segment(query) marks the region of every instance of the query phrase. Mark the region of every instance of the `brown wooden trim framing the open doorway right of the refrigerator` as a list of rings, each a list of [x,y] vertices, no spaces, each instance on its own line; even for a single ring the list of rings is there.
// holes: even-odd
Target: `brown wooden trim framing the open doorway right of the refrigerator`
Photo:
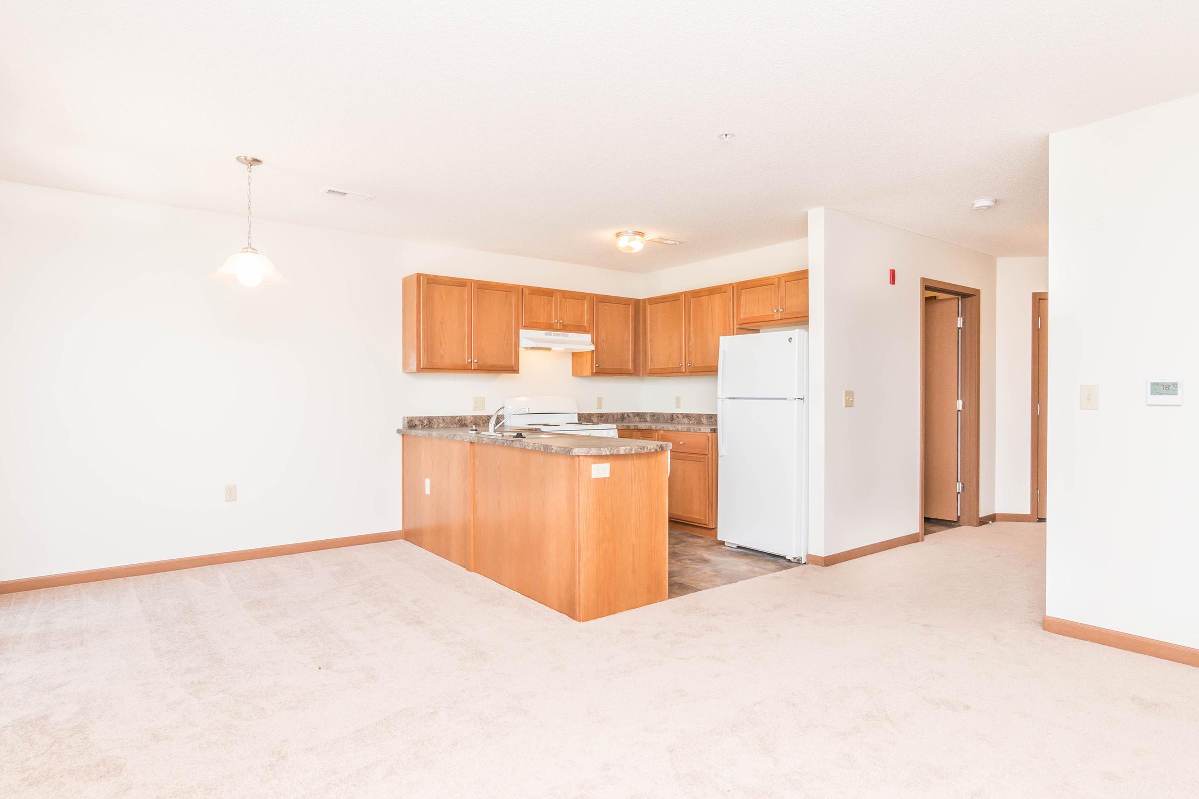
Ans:
[[[982,377],[981,313],[982,291],[933,278],[920,279],[920,516],[916,529],[924,540],[924,292],[939,291],[962,298],[962,509],[958,523],[977,527],[978,519],[978,435],[980,381]]]

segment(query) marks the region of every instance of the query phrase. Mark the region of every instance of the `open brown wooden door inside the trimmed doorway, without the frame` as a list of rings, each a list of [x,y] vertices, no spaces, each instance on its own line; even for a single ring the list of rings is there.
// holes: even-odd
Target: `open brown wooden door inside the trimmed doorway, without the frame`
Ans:
[[[958,299],[924,299],[924,516],[958,520]]]

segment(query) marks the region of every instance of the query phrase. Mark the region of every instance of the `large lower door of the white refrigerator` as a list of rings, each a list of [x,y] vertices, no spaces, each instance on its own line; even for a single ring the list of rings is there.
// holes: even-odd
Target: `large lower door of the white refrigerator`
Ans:
[[[718,538],[806,561],[803,401],[722,399],[718,414]]]

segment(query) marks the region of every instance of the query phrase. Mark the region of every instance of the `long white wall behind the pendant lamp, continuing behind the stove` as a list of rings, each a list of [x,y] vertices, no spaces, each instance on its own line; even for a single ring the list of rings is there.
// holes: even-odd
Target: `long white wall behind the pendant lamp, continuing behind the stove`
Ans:
[[[410,272],[626,295],[640,276],[259,220],[290,283],[209,280],[243,225],[0,182],[0,580],[398,529],[399,418],[475,395],[641,408],[639,381],[570,377],[558,352],[400,371]]]

